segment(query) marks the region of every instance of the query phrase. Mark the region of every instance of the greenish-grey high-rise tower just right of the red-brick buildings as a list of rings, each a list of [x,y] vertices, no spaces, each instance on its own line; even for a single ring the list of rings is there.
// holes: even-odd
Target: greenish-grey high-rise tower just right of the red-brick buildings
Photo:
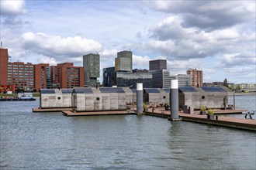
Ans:
[[[85,86],[95,87],[99,78],[99,54],[89,53],[83,56]]]

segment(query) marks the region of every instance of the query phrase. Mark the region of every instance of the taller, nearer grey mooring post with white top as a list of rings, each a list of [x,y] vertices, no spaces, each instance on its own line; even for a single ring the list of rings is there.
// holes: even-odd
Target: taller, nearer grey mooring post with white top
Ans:
[[[171,121],[179,120],[178,118],[178,80],[171,80],[170,90],[170,106],[171,106]]]

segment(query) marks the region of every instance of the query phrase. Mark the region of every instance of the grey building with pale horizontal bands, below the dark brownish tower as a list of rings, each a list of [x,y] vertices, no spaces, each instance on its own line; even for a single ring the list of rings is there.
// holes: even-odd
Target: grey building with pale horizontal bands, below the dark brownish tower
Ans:
[[[170,88],[171,77],[168,70],[150,70],[152,74],[152,87],[154,88]]]

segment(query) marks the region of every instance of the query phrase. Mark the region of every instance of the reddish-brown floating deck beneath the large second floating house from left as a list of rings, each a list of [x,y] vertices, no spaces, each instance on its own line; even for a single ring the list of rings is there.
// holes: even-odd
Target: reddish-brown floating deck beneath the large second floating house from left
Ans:
[[[86,111],[75,112],[73,110],[62,110],[65,116],[95,116],[95,115],[117,115],[117,114],[135,114],[133,110],[104,110],[104,111]]]

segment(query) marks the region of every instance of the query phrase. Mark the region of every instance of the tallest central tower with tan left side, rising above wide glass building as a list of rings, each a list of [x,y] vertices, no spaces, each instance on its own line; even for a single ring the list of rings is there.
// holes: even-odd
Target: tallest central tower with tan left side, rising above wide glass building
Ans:
[[[133,72],[133,53],[131,51],[121,51],[117,53],[115,70],[116,72]]]

